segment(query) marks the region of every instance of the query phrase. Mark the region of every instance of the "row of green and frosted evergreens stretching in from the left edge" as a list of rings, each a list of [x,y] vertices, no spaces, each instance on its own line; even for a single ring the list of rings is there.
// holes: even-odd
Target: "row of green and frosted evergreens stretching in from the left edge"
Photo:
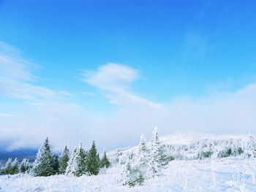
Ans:
[[[18,164],[17,158],[12,162],[10,158],[7,161],[4,169],[1,169],[1,174],[18,174],[29,173],[33,176],[50,176],[54,174],[67,174],[70,176],[81,176],[83,174],[91,175],[98,174],[100,168],[108,168],[110,161],[104,152],[102,158],[99,158],[95,142],[92,142],[89,151],[83,149],[80,142],[79,147],[75,147],[74,152],[69,157],[69,150],[67,146],[64,147],[63,152],[59,155],[51,153],[48,138],[39,148],[37,158],[34,164],[30,164],[25,158]]]

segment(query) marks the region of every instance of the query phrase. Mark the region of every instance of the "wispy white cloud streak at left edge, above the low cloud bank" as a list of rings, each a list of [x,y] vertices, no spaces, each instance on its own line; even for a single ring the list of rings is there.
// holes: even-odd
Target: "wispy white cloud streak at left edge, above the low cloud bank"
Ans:
[[[33,66],[18,49],[0,42],[0,95],[27,100],[58,97],[56,91],[34,85]]]

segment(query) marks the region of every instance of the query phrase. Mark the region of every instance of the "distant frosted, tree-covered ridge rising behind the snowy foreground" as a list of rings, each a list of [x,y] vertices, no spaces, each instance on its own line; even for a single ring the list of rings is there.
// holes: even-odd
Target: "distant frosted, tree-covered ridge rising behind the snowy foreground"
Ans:
[[[225,158],[228,156],[256,156],[256,135],[225,135],[178,133],[160,137],[162,150],[170,159],[192,160]],[[150,142],[147,142],[150,145]],[[125,164],[138,153],[138,146],[113,150],[108,153],[112,164]]]

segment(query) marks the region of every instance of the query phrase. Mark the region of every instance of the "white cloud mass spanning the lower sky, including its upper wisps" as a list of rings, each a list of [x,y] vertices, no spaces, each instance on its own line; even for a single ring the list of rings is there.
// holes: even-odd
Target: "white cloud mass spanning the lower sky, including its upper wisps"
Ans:
[[[99,91],[81,95],[100,93],[118,108],[103,118],[72,102],[69,91],[37,85],[34,64],[10,45],[0,43],[0,47],[0,104],[4,106],[0,109],[0,143],[10,150],[38,147],[47,136],[57,150],[66,144],[72,148],[80,140],[89,145],[92,139],[99,149],[110,150],[137,144],[141,133],[149,138],[154,126],[161,135],[175,131],[256,134],[256,83],[235,92],[157,103],[132,91],[132,83],[140,78],[138,69],[108,63],[81,74],[83,82]]]

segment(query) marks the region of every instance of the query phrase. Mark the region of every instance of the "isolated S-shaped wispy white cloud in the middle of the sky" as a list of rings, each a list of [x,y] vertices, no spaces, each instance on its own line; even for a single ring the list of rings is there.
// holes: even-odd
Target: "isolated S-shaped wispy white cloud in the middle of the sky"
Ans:
[[[112,104],[131,107],[145,104],[148,107],[159,107],[160,104],[143,99],[130,91],[132,82],[139,77],[139,71],[124,64],[108,63],[96,71],[84,71],[82,80],[98,88],[110,99]]]

